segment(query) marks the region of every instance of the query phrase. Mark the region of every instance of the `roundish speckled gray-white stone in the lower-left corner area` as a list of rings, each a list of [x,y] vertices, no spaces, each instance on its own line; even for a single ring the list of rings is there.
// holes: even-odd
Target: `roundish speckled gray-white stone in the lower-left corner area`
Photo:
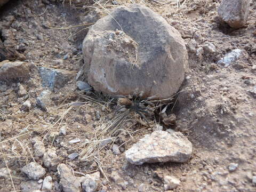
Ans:
[[[45,169],[38,163],[31,162],[22,168],[22,172],[25,173],[29,179],[40,179],[45,174]]]

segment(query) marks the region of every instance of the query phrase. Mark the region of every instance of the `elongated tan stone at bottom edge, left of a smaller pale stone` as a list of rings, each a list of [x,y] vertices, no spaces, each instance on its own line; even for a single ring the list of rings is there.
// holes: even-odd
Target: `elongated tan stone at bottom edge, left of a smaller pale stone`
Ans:
[[[59,164],[58,173],[60,175],[60,185],[64,192],[81,191],[81,182],[73,175],[67,165]]]

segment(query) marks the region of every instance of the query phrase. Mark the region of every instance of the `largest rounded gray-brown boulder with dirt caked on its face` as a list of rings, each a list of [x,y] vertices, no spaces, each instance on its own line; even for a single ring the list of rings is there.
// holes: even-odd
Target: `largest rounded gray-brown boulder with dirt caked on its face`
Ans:
[[[142,98],[171,97],[188,62],[179,32],[138,4],[118,7],[98,20],[83,41],[83,55],[94,90]]]

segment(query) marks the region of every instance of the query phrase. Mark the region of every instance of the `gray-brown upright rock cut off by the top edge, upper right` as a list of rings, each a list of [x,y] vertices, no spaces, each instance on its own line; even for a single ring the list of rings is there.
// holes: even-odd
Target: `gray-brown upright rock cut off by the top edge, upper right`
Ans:
[[[222,0],[218,14],[232,28],[243,27],[247,21],[251,0]]]

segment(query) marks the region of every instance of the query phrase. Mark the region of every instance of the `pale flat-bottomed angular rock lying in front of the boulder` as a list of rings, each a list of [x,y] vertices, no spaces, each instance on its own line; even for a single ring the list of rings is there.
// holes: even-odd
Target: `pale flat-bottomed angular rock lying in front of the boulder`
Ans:
[[[180,132],[154,131],[125,152],[132,164],[155,162],[186,162],[192,153],[191,142]]]

